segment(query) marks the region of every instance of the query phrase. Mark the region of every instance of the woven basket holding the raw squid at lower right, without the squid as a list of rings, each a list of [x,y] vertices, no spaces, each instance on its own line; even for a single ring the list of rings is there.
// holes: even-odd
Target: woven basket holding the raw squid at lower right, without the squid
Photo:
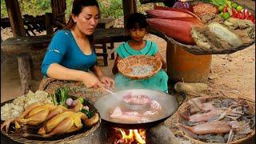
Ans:
[[[210,100],[213,100],[213,99],[216,99],[216,98],[218,98],[218,99],[226,99],[226,98],[230,98],[230,97],[210,97],[210,98],[206,98],[206,102],[208,102]],[[235,98],[230,98],[230,99],[235,99]],[[246,100],[247,105],[249,106],[250,114],[252,114],[252,115],[255,114],[255,102],[252,102],[252,101],[250,101],[248,99],[245,99],[245,98],[238,98],[238,99]],[[188,102],[185,102],[180,107],[180,109],[178,111],[180,113],[183,113],[183,112],[186,112],[187,110],[190,110],[190,106],[189,106]],[[182,118],[180,116],[178,116],[178,122],[181,122],[181,120],[182,120]],[[217,144],[216,142],[202,142],[202,141],[199,141],[197,139],[190,138],[190,136],[186,135],[182,130],[180,130],[180,132],[182,133],[182,135],[185,138],[188,138],[194,144]],[[254,134],[255,134],[255,127],[254,127],[253,132],[248,134],[245,138],[240,138],[240,139],[238,139],[236,141],[230,142],[230,144],[238,144],[238,143],[244,142],[247,139],[252,138],[254,136]],[[220,144],[220,143],[218,143],[218,144]]]

